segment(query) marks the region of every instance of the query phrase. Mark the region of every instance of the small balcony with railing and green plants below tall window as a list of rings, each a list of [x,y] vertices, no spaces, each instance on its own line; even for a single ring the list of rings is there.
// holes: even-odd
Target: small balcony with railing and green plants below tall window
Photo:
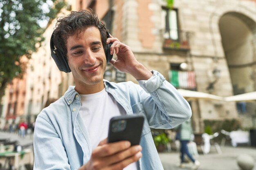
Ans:
[[[163,35],[163,48],[166,50],[189,51],[189,32],[182,30],[169,30]]]

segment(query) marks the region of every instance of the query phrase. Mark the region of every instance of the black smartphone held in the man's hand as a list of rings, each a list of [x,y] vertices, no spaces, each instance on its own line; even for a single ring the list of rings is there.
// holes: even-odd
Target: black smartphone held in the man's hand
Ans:
[[[143,124],[142,115],[112,117],[108,129],[108,143],[130,141],[131,145],[139,145]]]

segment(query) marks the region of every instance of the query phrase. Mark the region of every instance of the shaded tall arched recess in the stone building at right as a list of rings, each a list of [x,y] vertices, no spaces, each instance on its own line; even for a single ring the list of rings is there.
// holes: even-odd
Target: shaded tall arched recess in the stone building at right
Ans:
[[[227,12],[219,29],[234,95],[255,91],[256,22],[243,13]]]

